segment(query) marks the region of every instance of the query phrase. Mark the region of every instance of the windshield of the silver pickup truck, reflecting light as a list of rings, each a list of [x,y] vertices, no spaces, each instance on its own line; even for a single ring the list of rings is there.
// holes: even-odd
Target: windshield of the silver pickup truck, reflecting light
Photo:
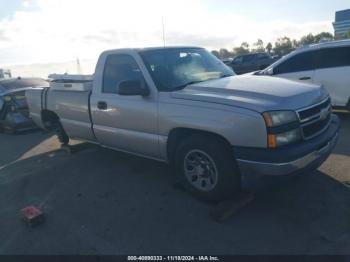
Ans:
[[[234,72],[202,48],[157,49],[140,52],[159,91],[233,76]]]

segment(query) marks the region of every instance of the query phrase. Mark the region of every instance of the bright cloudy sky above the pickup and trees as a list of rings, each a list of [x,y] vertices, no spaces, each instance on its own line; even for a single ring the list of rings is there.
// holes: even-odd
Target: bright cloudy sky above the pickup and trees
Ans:
[[[16,75],[91,73],[98,54],[167,45],[231,49],[242,41],[333,32],[349,0],[0,0],[0,67]],[[67,62],[68,61],[68,62]],[[69,62],[70,61],[70,62]]]

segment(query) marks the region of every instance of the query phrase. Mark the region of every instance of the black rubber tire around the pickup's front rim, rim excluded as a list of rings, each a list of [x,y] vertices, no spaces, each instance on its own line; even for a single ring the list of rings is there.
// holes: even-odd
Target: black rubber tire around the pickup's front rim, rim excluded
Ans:
[[[190,159],[191,154],[197,154],[197,151],[199,154],[204,152],[205,155],[209,156],[217,171],[216,179],[213,179],[216,183],[212,182],[212,178],[210,178],[209,182],[211,183],[209,187],[212,186],[213,188],[204,191],[198,188],[202,185],[197,185],[196,188],[196,186],[191,184],[189,181],[190,178],[188,178],[185,172],[185,160]],[[201,200],[225,200],[241,190],[241,176],[232,149],[219,138],[210,135],[193,135],[186,138],[176,149],[174,165],[178,179],[185,189]],[[193,170],[197,169],[193,168]],[[213,169],[208,168],[207,170]],[[196,180],[195,177],[202,179],[201,176],[203,175],[195,175],[194,180]],[[201,184],[199,180],[196,183]]]

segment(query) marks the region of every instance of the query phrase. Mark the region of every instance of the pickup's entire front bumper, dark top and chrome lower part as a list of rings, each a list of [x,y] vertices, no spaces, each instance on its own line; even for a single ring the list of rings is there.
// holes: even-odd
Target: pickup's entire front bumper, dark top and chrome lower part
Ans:
[[[235,148],[243,181],[249,176],[283,176],[318,168],[335,147],[339,128],[339,118],[332,115],[325,132],[298,145],[273,150]]]

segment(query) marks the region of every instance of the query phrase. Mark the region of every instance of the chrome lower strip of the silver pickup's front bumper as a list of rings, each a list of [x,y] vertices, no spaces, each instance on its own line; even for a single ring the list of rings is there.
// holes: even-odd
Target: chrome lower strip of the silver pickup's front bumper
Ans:
[[[321,165],[331,154],[333,148],[338,141],[339,134],[330,140],[326,146],[314,151],[302,158],[287,163],[266,163],[266,162],[255,162],[243,159],[237,159],[237,163],[241,174],[243,176],[254,174],[254,175],[269,175],[269,176],[280,176],[289,175],[300,172],[307,169],[310,166]]]

